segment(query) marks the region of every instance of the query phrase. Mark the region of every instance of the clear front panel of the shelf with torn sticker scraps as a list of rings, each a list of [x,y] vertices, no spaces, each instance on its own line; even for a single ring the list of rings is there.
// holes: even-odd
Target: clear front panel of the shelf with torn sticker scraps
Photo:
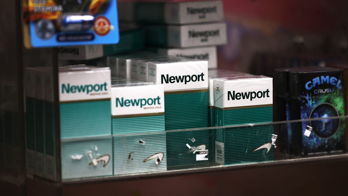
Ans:
[[[63,139],[63,183],[348,159],[347,117]],[[319,137],[331,124],[337,130]],[[93,164],[98,157],[101,161]]]

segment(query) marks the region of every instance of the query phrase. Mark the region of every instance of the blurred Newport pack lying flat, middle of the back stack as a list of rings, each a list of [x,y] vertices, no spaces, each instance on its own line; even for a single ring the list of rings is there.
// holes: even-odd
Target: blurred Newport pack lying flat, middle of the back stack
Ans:
[[[146,25],[145,44],[162,47],[196,47],[227,43],[225,23]]]

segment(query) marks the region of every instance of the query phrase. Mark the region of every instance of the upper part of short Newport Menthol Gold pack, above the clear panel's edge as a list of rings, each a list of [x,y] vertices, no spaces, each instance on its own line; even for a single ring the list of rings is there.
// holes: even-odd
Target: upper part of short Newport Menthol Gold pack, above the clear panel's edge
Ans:
[[[165,130],[163,85],[141,81],[113,81],[112,134]]]

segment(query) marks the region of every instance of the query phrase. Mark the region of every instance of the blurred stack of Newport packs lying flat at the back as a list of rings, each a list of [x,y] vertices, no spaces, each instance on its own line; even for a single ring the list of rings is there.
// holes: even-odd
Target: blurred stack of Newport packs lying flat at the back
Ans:
[[[208,61],[227,43],[222,1],[118,2],[119,20],[143,25],[145,44],[159,54]]]

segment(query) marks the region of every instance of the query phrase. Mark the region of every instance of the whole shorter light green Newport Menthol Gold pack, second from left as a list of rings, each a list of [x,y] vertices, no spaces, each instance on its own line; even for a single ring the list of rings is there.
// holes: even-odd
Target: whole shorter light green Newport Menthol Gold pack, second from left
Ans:
[[[166,171],[164,89],[161,84],[112,82],[114,175]],[[147,133],[136,136],[119,134]]]

